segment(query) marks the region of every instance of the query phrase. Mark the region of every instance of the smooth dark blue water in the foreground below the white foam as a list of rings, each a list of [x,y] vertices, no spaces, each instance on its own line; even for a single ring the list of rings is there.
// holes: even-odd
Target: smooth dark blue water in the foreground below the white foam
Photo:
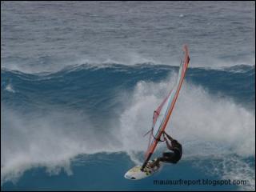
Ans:
[[[48,176],[45,174],[45,168],[38,168],[28,170],[14,186],[10,182],[6,182],[6,190],[114,190],[118,186],[118,190],[236,190],[237,186],[213,186],[213,185],[156,185],[154,180],[196,180],[221,179],[213,176],[206,176],[202,170],[197,170],[190,166],[190,162],[181,162],[179,166],[166,167],[161,174],[155,174],[152,178],[146,178],[136,182],[130,182],[125,178],[120,178],[124,171],[133,166],[127,161],[125,154],[94,154],[94,160],[98,160],[98,156],[107,158],[110,162],[102,162],[101,169],[98,169],[98,163],[90,162],[86,166],[72,166],[74,174],[68,176],[63,171],[58,175]],[[115,162],[118,160],[117,162]],[[113,163],[111,163],[113,162]],[[207,163],[207,162],[205,162]],[[74,163],[75,164],[75,163]],[[182,168],[181,168],[182,167]],[[94,171],[97,170],[96,173]],[[88,174],[93,172],[94,174]],[[176,173],[176,174],[174,174]],[[193,173],[187,174],[187,173]],[[31,175],[33,175],[34,182],[31,183]],[[111,175],[111,177],[110,177]],[[118,182],[118,185],[117,185]],[[30,187],[28,187],[30,186]],[[86,186],[86,187],[85,187]]]

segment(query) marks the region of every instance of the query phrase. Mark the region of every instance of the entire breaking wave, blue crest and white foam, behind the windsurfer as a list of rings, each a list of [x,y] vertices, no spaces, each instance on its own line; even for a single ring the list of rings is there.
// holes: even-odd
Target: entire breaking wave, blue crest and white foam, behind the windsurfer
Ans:
[[[96,174],[116,162],[119,171],[142,162],[147,143],[142,135],[177,78],[178,67],[85,64],[52,74],[1,73],[5,186],[31,175],[26,170],[42,172],[33,167],[55,174],[64,168],[75,178],[74,170],[86,171],[94,167],[91,163],[102,165],[95,167]],[[209,172],[208,178],[240,174],[254,182],[254,79],[254,66],[188,70],[166,129],[183,143],[184,165],[175,168],[178,172],[186,174],[183,166],[194,166],[190,171]],[[161,178],[168,174],[166,170]]]

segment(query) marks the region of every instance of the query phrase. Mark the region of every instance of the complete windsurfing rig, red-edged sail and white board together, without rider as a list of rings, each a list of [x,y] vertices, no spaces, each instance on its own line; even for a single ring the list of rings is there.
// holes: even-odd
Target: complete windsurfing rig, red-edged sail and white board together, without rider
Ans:
[[[177,101],[179,91],[182,87],[182,82],[185,78],[186,69],[190,62],[188,46],[183,46],[183,51],[184,58],[179,67],[177,82],[175,82],[173,89],[170,90],[169,94],[162,101],[160,106],[158,106],[158,108],[154,110],[152,128],[147,133],[150,134],[150,140],[145,153],[145,160],[142,166],[135,166],[137,168],[134,167],[134,170],[131,169],[127,171],[125,174],[125,178],[141,179],[150,176],[151,174],[154,174],[154,172],[156,172],[154,170],[149,171],[149,167],[147,166],[147,164],[149,163],[152,154],[154,154],[154,150],[158,146],[158,142],[161,141],[162,133],[166,129],[167,123],[170,119],[170,115],[174,110],[175,102]]]

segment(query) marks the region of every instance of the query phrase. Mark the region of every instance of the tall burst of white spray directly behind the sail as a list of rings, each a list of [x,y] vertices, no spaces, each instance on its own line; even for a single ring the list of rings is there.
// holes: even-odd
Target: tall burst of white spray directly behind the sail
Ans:
[[[138,82],[132,102],[121,116],[126,150],[142,150],[141,146],[145,149],[146,139],[141,137],[150,130],[152,111],[164,98],[166,87],[170,87],[168,83]],[[196,152],[192,149],[193,142],[196,145],[208,142],[213,150],[219,146],[220,149],[225,147],[223,150],[234,150],[236,154],[254,155],[254,119],[254,114],[234,102],[211,96],[202,87],[185,82],[166,130],[189,143],[191,149],[186,154]]]

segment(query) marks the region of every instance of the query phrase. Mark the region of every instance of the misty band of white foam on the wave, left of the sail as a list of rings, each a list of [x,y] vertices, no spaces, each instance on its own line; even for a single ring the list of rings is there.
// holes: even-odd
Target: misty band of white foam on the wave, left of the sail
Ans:
[[[115,139],[109,142],[78,111],[25,114],[2,105],[1,118],[1,183],[34,166],[46,166],[51,173],[62,166],[70,173],[70,159],[77,154],[117,151]]]

